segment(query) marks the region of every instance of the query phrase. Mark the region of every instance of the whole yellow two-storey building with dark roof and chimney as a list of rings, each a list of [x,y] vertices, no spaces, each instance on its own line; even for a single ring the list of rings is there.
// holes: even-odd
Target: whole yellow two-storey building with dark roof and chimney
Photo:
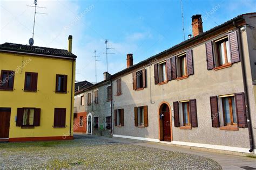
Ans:
[[[0,141],[72,139],[76,55],[0,45]]]

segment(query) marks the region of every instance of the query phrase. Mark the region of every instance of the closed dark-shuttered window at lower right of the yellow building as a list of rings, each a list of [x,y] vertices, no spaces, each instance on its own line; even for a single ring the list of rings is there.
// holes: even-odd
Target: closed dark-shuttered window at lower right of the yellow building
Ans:
[[[54,110],[54,128],[65,128],[66,126],[66,109],[55,108]]]

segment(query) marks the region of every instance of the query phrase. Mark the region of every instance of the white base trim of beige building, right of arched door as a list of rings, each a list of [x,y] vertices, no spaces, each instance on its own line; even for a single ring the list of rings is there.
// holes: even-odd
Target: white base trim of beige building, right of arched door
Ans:
[[[203,148],[211,148],[214,150],[225,150],[225,151],[233,151],[233,152],[244,152],[244,153],[250,153],[250,148],[244,148],[244,147],[232,147],[232,146],[223,146],[223,145],[211,145],[211,144],[199,144],[199,143],[191,143],[186,141],[171,141],[170,144],[174,145],[185,145],[185,146],[193,146],[193,147],[203,147]],[[252,153],[256,153],[256,150]]]

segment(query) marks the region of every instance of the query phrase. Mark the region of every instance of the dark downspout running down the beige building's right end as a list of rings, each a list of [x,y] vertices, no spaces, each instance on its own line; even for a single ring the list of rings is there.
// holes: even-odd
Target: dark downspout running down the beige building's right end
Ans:
[[[241,58],[241,68],[242,68],[242,80],[244,83],[244,91],[245,91],[245,105],[246,105],[246,117],[247,117],[247,126],[249,132],[249,140],[250,140],[250,150],[249,152],[253,152],[254,150],[254,140],[253,140],[253,131],[252,131],[252,124],[251,124],[251,112],[250,112],[250,102],[248,98],[248,88],[247,88],[247,77],[246,77],[246,70],[245,70],[245,61],[244,61],[244,53],[242,51],[242,41],[241,41],[241,33],[239,30],[239,26],[233,22],[233,25],[237,28],[238,32],[238,46],[239,46],[239,54]]]

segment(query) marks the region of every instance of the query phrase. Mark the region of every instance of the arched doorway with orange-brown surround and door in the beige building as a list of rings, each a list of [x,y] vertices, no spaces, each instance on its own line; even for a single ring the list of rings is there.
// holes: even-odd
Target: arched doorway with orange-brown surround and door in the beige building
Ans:
[[[160,132],[160,140],[163,141],[171,141],[171,112],[169,104],[163,103],[159,108],[159,132]]]

